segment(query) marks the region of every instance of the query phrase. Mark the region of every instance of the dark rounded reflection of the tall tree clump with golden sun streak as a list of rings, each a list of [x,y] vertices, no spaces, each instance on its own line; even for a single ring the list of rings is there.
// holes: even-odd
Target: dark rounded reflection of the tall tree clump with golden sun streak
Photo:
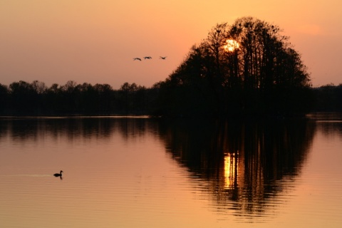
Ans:
[[[167,150],[199,177],[217,210],[260,216],[294,187],[314,136],[309,120],[172,120]]]

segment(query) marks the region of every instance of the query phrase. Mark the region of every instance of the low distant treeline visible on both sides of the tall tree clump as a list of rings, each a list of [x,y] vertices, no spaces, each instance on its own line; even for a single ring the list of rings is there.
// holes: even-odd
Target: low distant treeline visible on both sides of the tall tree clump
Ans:
[[[0,83],[0,115],[160,115],[159,111],[170,105],[164,94],[175,93],[161,88],[163,83],[151,88],[124,83],[118,90],[108,84],[93,86],[75,81],[51,87],[40,81],[19,81],[9,86]],[[309,111],[342,112],[342,83],[310,88],[310,93]],[[207,105],[195,97],[184,99],[192,99],[189,102],[198,107],[201,102]]]

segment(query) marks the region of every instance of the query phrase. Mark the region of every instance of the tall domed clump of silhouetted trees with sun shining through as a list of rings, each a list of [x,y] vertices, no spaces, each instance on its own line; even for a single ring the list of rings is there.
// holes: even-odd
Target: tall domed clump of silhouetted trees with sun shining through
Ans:
[[[172,115],[287,115],[308,110],[310,86],[289,37],[244,17],[217,24],[193,46],[162,84],[160,100],[170,103],[164,113]]]

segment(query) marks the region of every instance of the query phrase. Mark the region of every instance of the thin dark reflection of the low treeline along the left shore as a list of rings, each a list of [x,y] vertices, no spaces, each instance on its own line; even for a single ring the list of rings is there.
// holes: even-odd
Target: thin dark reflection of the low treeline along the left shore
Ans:
[[[145,118],[8,118],[0,120],[0,138],[7,136],[18,142],[37,141],[51,135],[68,140],[109,140],[114,133],[124,140],[144,135],[147,130],[157,132],[157,123]]]

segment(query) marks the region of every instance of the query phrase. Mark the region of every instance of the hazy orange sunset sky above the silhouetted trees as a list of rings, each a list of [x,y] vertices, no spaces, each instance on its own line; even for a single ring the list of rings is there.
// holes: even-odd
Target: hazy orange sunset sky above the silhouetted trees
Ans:
[[[341,9],[341,0],[0,0],[0,83],[150,87],[164,81],[213,26],[254,16],[284,29],[313,86],[338,85]],[[152,59],[133,61],[143,56]]]

